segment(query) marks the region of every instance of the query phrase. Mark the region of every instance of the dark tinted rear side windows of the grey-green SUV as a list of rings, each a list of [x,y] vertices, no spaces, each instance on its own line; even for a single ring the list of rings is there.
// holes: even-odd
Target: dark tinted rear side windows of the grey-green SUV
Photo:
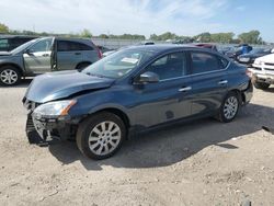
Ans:
[[[70,42],[70,41],[58,41],[58,52],[70,52],[70,50],[93,50],[93,47],[82,43]]]

